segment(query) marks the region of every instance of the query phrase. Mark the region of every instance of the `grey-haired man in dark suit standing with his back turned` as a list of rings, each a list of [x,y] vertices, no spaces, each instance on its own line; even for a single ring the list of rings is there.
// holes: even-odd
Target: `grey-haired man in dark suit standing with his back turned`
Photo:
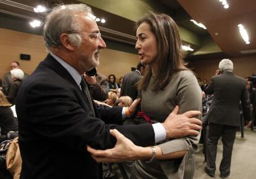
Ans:
[[[207,145],[207,167],[205,172],[214,177],[218,140],[222,137],[223,159],[220,164],[220,177],[226,178],[230,173],[231,156],[236,131],[240,126],[239,103],[242,101],[244,118],[250,120],[250,101],[246,89],[245,79],[233,74],[233,62],[229,59],[221,60],[219,70],[211,78],[210,85],[205,90],[213,94],[207,120],[209,124]]]

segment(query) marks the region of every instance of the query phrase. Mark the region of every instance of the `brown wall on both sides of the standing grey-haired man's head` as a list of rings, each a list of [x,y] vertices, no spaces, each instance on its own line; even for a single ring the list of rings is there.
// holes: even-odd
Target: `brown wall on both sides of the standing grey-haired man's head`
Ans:
[[[218,66],[221,59],[200,59],[191,60],[189,67],[194,69],[197,76],[201,79],[207,79],[210,82],[211,76],[218,70]],[[252,73],[256,74],[256,55],[250,55],[245,57],[233,57],[230,58],[234,63],[234,74],[245,78],[251,76]]]

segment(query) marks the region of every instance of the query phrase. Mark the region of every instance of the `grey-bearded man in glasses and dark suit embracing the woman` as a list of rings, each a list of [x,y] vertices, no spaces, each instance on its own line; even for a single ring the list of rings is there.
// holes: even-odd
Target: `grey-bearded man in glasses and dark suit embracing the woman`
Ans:
[[[138,101],[129,109],[95,108],[81,74],[99,65],[106,44],[90,7],[56,7],[46,18],[43,36],[50,54],[23,82],[17,96],[20,178],[101,178],[101,165],[86,145],[113,148],[116,138],[109,133],[113,128],[140,146],[166,137],[198,135],[201,122],[192,117],[199,111],[173,113],[163,124],[118,126],[122,116],[134,113]],[[150,156],[148,151],[144,157]]]

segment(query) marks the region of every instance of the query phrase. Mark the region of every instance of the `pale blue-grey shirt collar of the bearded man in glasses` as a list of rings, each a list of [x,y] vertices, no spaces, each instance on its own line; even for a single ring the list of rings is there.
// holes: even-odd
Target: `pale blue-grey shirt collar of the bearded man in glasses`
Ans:
[[[61,65],[70,73],[72,78],[74,78],[75,82],[80,87],[80,82],[82,80],[81,74],[79,74],[79,72],[77,70],[75,70],[75,68],[70,66],[67,62],[65,62],[61,58],[54,55],[52,52],[50,52],[50,54],[51,54],[51,56],[53,56],[53,58],[55,58],[55,60],[57,60],[59,63],[61,63]]]

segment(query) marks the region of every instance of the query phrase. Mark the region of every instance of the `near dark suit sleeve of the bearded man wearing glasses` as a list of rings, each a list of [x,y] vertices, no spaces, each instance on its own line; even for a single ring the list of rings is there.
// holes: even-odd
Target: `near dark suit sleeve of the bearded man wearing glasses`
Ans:
[[[30,135],[58,141],[64,147],[80,151],[85,151],[86,145],[98,149],[113,148],[116,139],[109,133],[109,129],[113,128],[137,145],[148,146],[155,142],[151,125],[146,125],[143,129],[136,126],[127,128],[114,124],[106,125],[101,119],[93,117],[75,87],[37,81],[30,84],[26,91],[22,92],[22,96],[24,105],[17,106],[17,113],[23,120],[20,125],[26,124],[26,127],[33,129],[34,133]],[[150,133],[150,136],[143,136],[145,132]]]

